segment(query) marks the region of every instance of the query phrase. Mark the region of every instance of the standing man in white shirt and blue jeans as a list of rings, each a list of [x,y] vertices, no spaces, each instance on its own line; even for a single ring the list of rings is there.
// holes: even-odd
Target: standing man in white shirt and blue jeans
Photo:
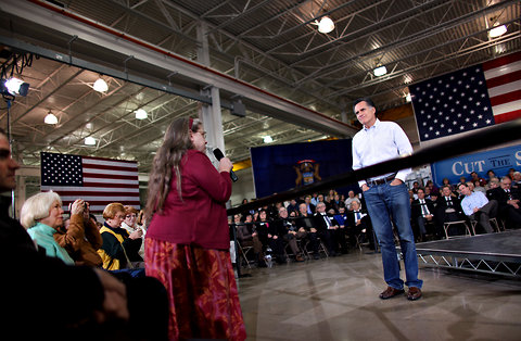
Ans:
[[[353,138],[353,169],[412,153],[412,147],[404,130],[394,122],[380,122],[370,99],[356,100],[353,109],[364,126]],[[418,256],[410,226],[410,201],[405,185],[405,178],[410,172],[410,168],[401,169],[358,182],[382,250],[383,276],[387,283],[387,289],[380,293],[382,300],[405,292],[404,281],[399,278],[399,263],[389,213],[393,216],[404,254],[405,285],[409,288],[407,299],[415,301],[421,298],[423,281],[418,279]]]

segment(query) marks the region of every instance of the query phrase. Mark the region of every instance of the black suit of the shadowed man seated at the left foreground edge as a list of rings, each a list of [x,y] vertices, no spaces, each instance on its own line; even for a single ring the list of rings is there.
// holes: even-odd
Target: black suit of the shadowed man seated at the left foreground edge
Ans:
[[[9,202],[0,203],[0,256],[7,260],[2,269],[7,276],[0,280],[5,312],[0,323],[2,334],[18,340],[88,338],[89,326],[96,325],[93,312],[101,310],[104,300],[98,275],[38,252],[8,212]],[[27,319],[27,314],[34,318]]]

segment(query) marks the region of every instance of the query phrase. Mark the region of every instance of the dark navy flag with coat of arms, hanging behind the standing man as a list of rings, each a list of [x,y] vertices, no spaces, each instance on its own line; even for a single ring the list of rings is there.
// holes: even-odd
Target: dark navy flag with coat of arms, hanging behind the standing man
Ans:
[[[353,171],[351,139],[257,147],[251,154],[257,198]]]

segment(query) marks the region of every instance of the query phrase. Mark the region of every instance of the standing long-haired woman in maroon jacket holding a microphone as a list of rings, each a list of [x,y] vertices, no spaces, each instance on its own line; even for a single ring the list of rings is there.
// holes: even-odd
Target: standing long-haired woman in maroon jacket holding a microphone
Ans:
[[[223,157],[218,171],[213,166],[205,136],[199,119],[178,118],[157,150],[145,209],[145,269],[168,292],[171,340],[244,340],[225,206],[232,164]]]

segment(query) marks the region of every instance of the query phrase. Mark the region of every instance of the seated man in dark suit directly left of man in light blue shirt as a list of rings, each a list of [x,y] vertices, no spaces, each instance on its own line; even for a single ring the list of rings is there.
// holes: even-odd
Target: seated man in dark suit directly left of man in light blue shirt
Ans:
[[[436,236],[442,238],[445,236],[443,224],[449,222],[458,222],[465,219],[461,203],[456,194],[452,191],[452,187],[445,185],[436,201],[434,218],[437,227]]]

